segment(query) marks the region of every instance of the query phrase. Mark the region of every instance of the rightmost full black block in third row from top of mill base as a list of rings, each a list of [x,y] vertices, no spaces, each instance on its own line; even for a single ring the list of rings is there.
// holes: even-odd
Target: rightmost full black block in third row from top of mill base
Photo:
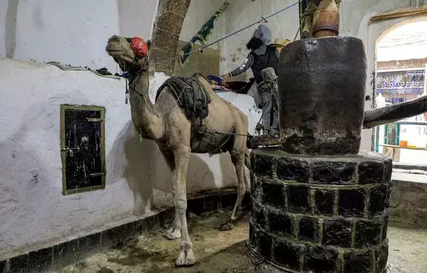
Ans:
[[[381,241],[381,222],[361,220],[356,223],[354,247],[372,247]]]

